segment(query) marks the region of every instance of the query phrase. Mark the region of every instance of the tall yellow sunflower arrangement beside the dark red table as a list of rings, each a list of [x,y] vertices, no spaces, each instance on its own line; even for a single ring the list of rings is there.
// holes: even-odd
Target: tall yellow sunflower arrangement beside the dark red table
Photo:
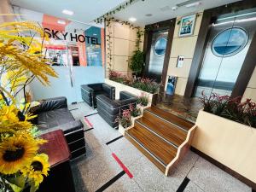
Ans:
[[[32,35],[33,34],[33,35]],[[41,39],[42,41],[39,41]],[[43,53],[47,37],[36,22],[0,24],[0,187],[3,192],[36,191],[48,175],[47,154],[38,152],[47,141],[29,113],[26,86],[33,79],[49,84],[57,77]],[[23,103],[17,102],[23,92]]]

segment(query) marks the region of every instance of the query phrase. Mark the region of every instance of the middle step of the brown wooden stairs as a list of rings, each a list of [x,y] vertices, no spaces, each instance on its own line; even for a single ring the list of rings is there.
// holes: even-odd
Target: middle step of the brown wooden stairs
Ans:
[[[181,145],[187,137],[187,132],[183,131],[183,129],[179,129],[177,126],[167,123],[165,120],[146,111],[143,113],[143,118],[137,119],[135,123],[143,124],[158,136],[173,143],[176,147]]]

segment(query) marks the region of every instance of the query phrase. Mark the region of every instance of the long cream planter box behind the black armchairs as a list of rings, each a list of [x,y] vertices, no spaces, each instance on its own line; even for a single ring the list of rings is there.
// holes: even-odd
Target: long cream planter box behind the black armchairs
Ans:
[[[152,93],[145,92],[143,90],[138,90],[136,88],[130,87],[125,84],[120,84],[118,82],[115,82],[115,81],[112,81],[109,79],[105,79],[105,83],[115,87],[115,99],[119,99],[119,92],[125,90],[135,96],[141,96],[142,93],[145,94],[146,96],[148,96],[149,107],[151,106],[152,103],[154,104],[154,102],[156,102],[156,98],[157,98],[158,94],[152,94]]]

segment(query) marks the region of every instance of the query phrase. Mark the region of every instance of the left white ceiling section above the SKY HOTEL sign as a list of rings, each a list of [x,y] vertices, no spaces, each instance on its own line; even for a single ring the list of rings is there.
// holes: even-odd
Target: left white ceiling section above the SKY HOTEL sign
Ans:
[[[125,0],[10,0],[13,5],[32,9],[47,15],[90,23]],[[64,15],[63,9],[72,10],[74,15]]]

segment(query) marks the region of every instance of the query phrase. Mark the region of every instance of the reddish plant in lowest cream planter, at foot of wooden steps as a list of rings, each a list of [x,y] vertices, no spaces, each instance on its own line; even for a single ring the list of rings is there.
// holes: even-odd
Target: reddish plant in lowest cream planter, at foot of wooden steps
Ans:
[[[131,111],[129,109],[123,110],[118,120],[119,120],[119,132],[122,135],[125,135],[125,130],[128,130],[132,127]]]

